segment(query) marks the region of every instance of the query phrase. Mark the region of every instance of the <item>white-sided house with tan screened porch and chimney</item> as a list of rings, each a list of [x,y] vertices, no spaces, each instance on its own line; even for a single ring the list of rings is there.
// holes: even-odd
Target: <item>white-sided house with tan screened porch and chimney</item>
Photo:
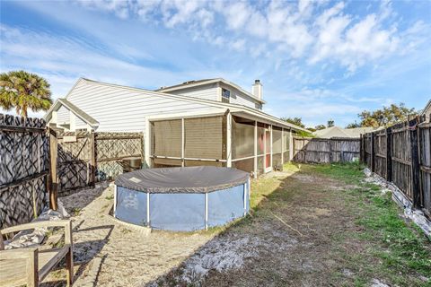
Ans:
[[[292,134],[305,131],[262,111],[251,92],[221,78],[156,91],[79,79],[45,115],[66,131],[142,132],[147,167],[215,165],[254,176],[292,159]]]

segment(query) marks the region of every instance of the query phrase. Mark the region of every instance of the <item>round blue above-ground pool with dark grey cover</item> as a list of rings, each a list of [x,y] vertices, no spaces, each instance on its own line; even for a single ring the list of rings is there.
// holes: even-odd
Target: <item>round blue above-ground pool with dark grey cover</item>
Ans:
[[[203,230],[244,216],[247,172],[217,167],[136,170],[115,180],[114,216],[158,230]]]

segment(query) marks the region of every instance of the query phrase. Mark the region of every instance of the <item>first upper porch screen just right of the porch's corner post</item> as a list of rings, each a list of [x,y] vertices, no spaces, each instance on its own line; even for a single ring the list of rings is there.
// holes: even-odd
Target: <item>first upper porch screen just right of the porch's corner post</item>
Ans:
[[[232,117],[232,159],[254,155],[254,121]]]

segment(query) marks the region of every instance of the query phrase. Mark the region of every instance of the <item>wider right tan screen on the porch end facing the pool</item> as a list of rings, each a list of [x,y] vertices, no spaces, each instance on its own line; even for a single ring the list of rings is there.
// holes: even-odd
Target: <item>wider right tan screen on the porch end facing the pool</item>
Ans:
[[[193,159],[223,159],[223,117],[184,119],[184,156]]]

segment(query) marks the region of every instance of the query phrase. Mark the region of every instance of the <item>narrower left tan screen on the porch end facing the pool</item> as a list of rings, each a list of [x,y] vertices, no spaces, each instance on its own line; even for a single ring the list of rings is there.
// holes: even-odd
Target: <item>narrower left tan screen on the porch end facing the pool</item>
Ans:
[[[152,123],[153,155],[181,157],[181,120],[163,120]]]

